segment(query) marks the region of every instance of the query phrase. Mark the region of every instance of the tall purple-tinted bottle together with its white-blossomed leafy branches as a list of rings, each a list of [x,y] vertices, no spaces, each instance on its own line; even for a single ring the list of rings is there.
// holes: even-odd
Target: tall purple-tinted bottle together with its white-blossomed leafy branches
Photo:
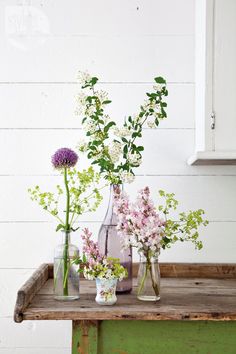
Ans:
[[[128,116],[119,127],[105,112],[111,100],[107,92],[97,89],[98,79],[87,73],[79,73],[78,79],[83,91],[77,96],[77,113],[82,118],[86,133],[86,140],[80,141],[78,148],[87,153],[88,159],[110,184],[108,209],[98,235],[99,249],[106,256],[120,258],[121,264],[128,269],[128,278],[118,284],[117,291],[130,292],[132,249],[121,252],[114,213],[114,193],[115,189],[123,189],[123,183],[133,182],[134,169],[142,163],[144,147],[137,144],[137,138],[142,137],[143,128],[156,128],[167,117],[167,104],[164,101],[168,95],[166,81],[156,77],[152,92],[146,94],[147,99],[137,114]]]

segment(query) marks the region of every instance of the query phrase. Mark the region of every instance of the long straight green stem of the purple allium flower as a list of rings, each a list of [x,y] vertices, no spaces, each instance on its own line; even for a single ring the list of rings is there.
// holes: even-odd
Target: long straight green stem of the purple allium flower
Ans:
[[[67,180],[67,168],[64,168],[64,183],[66,188],[66,221],[65,221],[65,246],[63,253],[63,295],[68,296],[68,248],[69,248],[69,214],[70,214],[70,191]]]

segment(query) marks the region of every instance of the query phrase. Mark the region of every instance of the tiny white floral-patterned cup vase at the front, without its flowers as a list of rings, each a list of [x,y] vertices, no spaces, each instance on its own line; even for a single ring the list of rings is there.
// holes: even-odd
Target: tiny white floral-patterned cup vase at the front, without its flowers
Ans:
[[[114,305],[116,297],[117,279],[96,279],[97,295],[95,301],[99,305]]]

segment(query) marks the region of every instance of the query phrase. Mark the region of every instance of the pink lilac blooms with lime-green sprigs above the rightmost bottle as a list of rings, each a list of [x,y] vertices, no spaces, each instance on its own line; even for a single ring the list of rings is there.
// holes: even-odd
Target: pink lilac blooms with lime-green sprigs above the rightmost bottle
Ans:
[[[204,210],[182,212],[179,220],[172,220],[169,217],[170,211],[175,210],[178,205],[174,193],[159,191],[159,194],[164,198],[165,204],[158,208],[150,199],[148,187],[139,192],[136,203],[131,203],[126,194],[117,194],[115,211],[123,248],[136,247],[149,259],[158,255],[161,248],[169,248],[177,241],[190,241],[196,249],[201,249],[198,228],[208,224],[202,217]],[[163,217],[158,212],[162,212]]]

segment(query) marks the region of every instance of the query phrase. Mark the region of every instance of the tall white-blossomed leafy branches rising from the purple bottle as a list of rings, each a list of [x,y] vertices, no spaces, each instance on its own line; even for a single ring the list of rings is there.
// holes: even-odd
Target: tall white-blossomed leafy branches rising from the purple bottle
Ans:
[[[97,89],[98,78],[80,73],[78,79],[83,91],[77,96],[77,114],[82,118],[87,137],[79,142],[79,151],[87,152],[88,159],[111,184],[133,182],[134,168],[140,166],[144,150],[142,145],[136,144],[136,139],[142,137],[145,124],[156,128],[160,120],[167,117],[165,79],[154,79],[153,91],[146,94],[147,99],[138,113],[128,116],[121,127],[105,112],[111,100],[107,92]]]

